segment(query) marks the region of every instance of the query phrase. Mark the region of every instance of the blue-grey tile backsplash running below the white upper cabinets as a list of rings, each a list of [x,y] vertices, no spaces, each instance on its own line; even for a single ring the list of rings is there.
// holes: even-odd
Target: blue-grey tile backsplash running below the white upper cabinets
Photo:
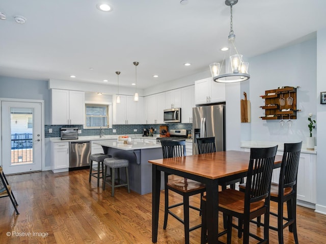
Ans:
[[[168,126],[169,130],[171,129],[185,129],[191,130],[193,124],[191,123],[171,123],[171,124],[145,124],[145,125],[113,125],[112,128],[104,128],[104,135],[124,135],[124,134],[142,134],[143,129],[149,129],[153,127],[155,129],[154,134],[159,134],[159,126]],[[45,125],[45,138],[48,137],[61,137],[60,129],[62,127],[78,127],[78,130],[81,130],[82,133],[78,136],[94,136],[99,135],[99,129],[84,129],[83,125]],[[49,129],[52,129],[52,133],[49,133]],[[113,133],[113,129],[117,130],[116,133]],[[134,130],[137,132],[134,132]]]

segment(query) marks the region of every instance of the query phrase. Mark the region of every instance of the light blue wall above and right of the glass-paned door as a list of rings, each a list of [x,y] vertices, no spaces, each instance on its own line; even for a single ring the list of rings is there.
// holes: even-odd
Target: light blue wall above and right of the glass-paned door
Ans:
[[[44,100],[44,123],[50,123],[51,96],[47,81],[0,76],[0,98]]]

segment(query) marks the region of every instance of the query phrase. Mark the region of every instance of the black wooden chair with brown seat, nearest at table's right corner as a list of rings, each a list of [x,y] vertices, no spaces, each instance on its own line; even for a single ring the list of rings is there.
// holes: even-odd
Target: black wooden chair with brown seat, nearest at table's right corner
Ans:
[[[264,228],[263,238],[249,232],[250,220],[264,215],[264,226],[269,226],[269,202],[271,175],[277,146],[268,148],[251,148],[250,161],[247,172],[247,187],[245,192],[234,189],[223,190],[219,193],[219,211],[227,218],[227,243],[231,243],[232,217],[243,223],[243,243],[249,243],[249,236],[259,240],[259,243],[268,243],[269,228]],[[251,187],[248,187],[251,186]],[[206,198],[202,198],[202,243],[206,236]],[[241,228],[238,227],[238,228]],[[224,232],[223,232],[224,233]]]

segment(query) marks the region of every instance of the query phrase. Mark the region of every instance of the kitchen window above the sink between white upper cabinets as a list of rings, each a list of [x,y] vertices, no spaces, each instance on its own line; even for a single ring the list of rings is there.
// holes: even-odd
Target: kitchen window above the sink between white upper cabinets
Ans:
[[[108,127],[109,105],[106,104],[85,104],[86,128]]]

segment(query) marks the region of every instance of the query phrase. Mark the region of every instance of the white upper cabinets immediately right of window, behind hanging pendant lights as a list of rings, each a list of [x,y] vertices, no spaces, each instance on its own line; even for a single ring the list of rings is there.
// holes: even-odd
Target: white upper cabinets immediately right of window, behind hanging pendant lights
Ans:
[[[133,96],[120,95],[120,103],[117,103],[117,95],[113,96],[113,124],[114,125],[136,125],[143,124],[142,110],[144,97],[139,101],[133,101]]]

